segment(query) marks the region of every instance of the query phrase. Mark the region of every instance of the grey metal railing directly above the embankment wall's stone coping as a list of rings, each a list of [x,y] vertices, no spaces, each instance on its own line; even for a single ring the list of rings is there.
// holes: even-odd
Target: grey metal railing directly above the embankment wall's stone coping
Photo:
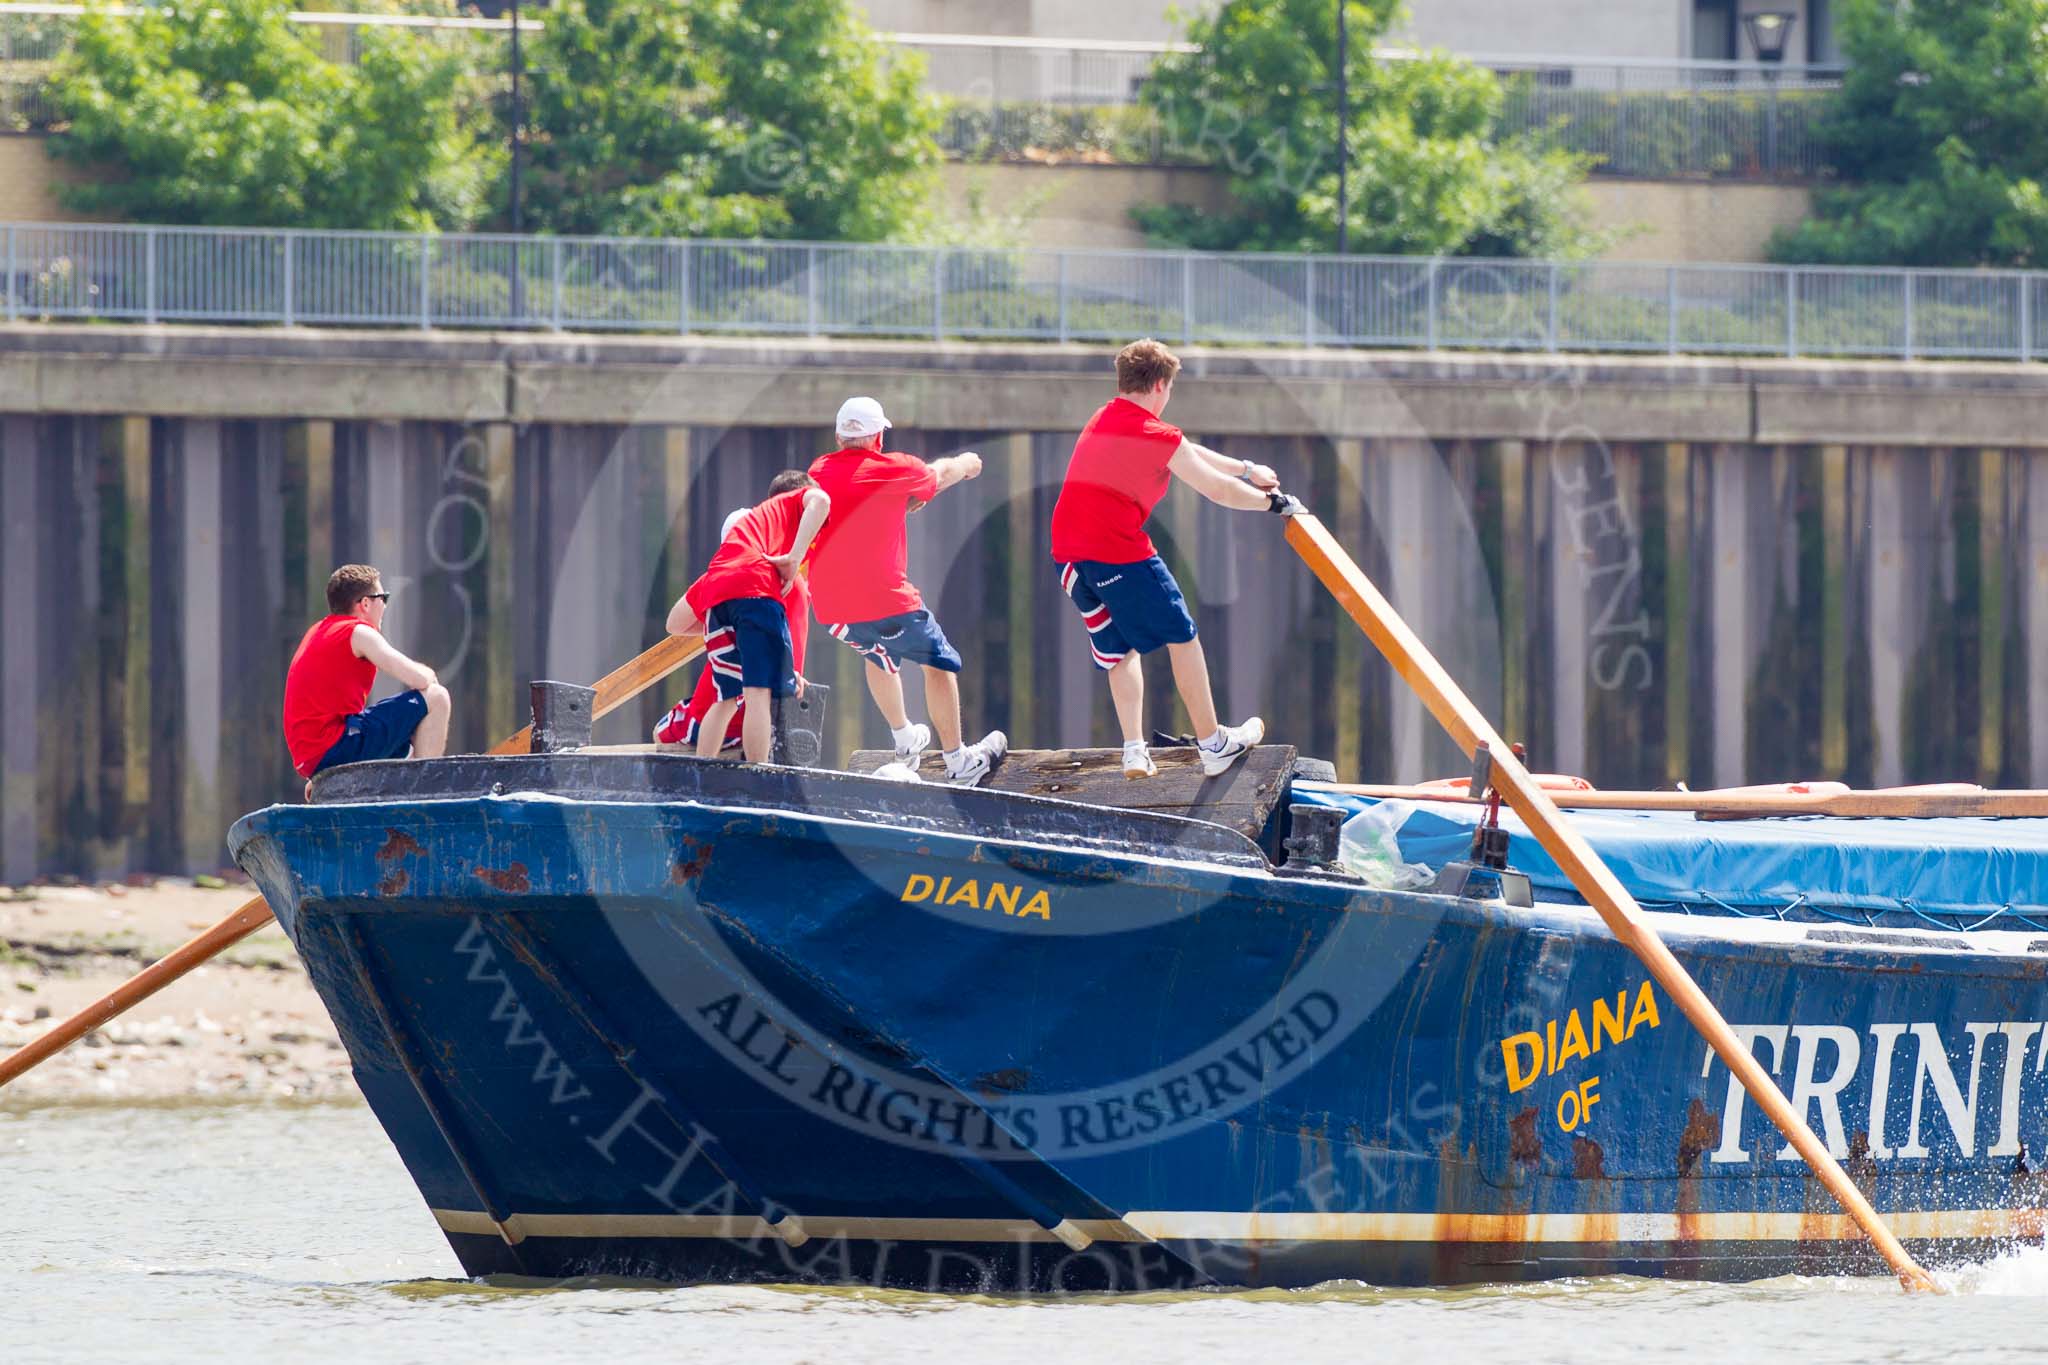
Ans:
[[[0,319],[2036,360],[2048,274],[14,223]]]

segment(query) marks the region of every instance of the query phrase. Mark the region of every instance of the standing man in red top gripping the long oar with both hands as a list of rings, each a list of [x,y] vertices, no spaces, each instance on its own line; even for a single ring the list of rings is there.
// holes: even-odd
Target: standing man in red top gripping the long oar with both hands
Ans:
[[[1174,663],[1174,686],[1198,737],[1202,774],[1223,774],[1266,737],[1266,722],[1257,716],[1243,724],[1217,720],[1208,659],[1194,618],[1180,583],[1145,534],[1145,522],[1167,485],[1178,475],[1223,508],[1300,510],[1280,491],[1274,471],[1221,456],[1161,422],[1176,375],[1180,358],[1151,338],[1116,352],[1116,397],[1081,428],[1053,505],[1059,585],[1081,612],[1096,667],[1110,675],[1110,700],[1124,731],[1126,778],[1159,772],[1145,749],[1145,673],[1139,657],[1161,647]]]

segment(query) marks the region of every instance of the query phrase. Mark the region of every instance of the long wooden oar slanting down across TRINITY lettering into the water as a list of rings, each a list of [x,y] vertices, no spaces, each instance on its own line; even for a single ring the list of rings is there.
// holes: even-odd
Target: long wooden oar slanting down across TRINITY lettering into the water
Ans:
[[[1804,1117],[1792,1111],[1784,1093],[1749,1054],[1749,1048],[1735,1038],[1735,1031],[1720,1017],[1720,1011],[1714,1009],[1714,1003],[1706,999],[1706,993],[1700,990],[1700,984],[1671,956],[1671,950],[1657,937],[1657,931],[1645,923],[1642,909],[1636,907],[1614,872],[1599,860],[1599,853],[1571,827],[1556,808],[1556,800],[1538,788],[1528,769],[1516,761],[1507,745],[1501,743],[1501,737],[1487,724],[1487,718],[1458,690],[1458,684],[1450,679],[1450,673],[1444,671],[1415,632],[1409,630],[1407,622],[1380,596],[1380,589],[1372,585],[1372,579],[1352,563],[1343,546],[1313,516],[1288,518],[1286,538],[1294,546],[1294,553],[1315,571],[1315,577],[1323,581],[1323,587],[1337,598],[1337,604],[1358,622],[1374,647],[1386,655],[1395,671],[1421,696],[1423,706],[1430,708],[1430,714],[1438,718],[1458,747],[1470,755],[1481,743],[1487,745],[1493,757],[1493,784],[1507,798],[1507,804],[1528,823],[1559,868],[1571,876],[1573,886],[1599,911],[1614,937],[1642,960],[1642,966],[1649,968],[1657,984],[1665,988],[1665,995],[1692,1019],[1692,1025],[1720,1054],[1729,1070],[1741,1076],[1743,1087],[1755,1097],[1757,1107],[1798,1148],[1798,1154],[1806,1158],[1806,1164],[1821,1177],[1829,1193],[1835,1195],[1841,1207],[1847,1209],[1884,1254],[1892,1271],[1896,1271],[1898,1283],[1907,1289],[1939,1293],[1927,1271],[1915,1265],[1913,1257],[1898,1244],[1898,1238],[1884,1226],[1878,1212],[1870,1207],[1870,1201],[1864,1199],[1864,1193],[1849,1181],[1827,1146],[1812,1136]]]

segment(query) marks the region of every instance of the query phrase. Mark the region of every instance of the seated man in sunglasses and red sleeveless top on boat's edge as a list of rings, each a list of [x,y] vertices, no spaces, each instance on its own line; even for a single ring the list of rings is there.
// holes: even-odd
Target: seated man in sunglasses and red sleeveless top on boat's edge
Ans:
[[[313,622],[285,671],[285,747],[313,796],[313,774],[340,763],[438,759],[449,747],[449,690],[434,669],[383,639],[391,593],[369,565],[342,565],[328,579],[328,616]],[[406,692],[375,706],[377,669]]]

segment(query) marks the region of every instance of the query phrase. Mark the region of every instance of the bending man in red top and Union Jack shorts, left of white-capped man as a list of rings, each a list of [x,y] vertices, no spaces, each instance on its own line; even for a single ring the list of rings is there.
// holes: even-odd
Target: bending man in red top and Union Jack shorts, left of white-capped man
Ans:
[[[705,636],[719,700],[705,714],[696,737],[698,757],[717,757],[725,726],[745,700],[739,749],[750,763],[766,763],[772,749],[770,698],[795,696],[795,649],[782,593],[803,571],[803,557],[825,524],[831,499],[815,483],[772,493],[739,518],[719,542],[711,567],[668,610],[670,634]]]

